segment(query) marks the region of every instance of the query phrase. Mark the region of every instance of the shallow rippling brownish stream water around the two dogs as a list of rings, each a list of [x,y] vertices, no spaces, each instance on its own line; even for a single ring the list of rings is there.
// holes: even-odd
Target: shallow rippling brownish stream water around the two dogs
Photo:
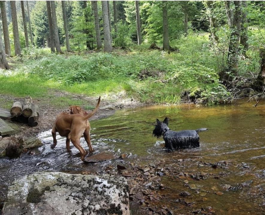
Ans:
[[[200,148],[168,153],[155,147],[157,139],[152,137],[155,120],[165,117],[169,118],[172,130],[209,128],[199,133]],[[163,199],[154,202],[155,205],[172,208],[175,214],[192,214],[197,209],[207,210],[208,206],[215,214],[265,214],[265,101],[256,108],[246,102],[213,107],[149,106],[120,110],[90,124],[96,153],[103,150],[128,153],[129,159],[142,163],[166,159],[166,165],[178,168],[175,176],[162,177],[168,188],[160,191]],[[72,154],[66,153],[64,138],[57,137],[58,144],[53,150],[50,131],[41,133],[40,138],[44,145],[34,155],[0,159],[0,200],[6,198],[7,186],[22,175],[43,170],[101,173],[102,166],[111,163],[84,165],[74,147]],[[82,145],[88,149],[83,138]],[[217,168],[212,168],[214,163]],[[204,176],[191,177],[200,174]],[[225,191],[224,185],[230,185],[231,189]],[[191,196],[180,196],[182,191]],[[217,195],[218,192],[222,195]],[[195,203],[186,206],[178,199]]]

